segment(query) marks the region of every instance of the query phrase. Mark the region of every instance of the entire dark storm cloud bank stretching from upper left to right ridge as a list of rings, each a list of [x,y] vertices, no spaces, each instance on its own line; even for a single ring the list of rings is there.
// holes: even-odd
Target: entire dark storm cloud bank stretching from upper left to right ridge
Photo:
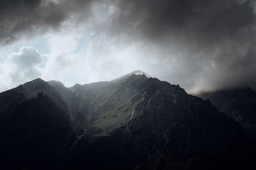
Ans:
[[[143,44],[141,66],[163,80],[192,90],[256,88],[255,6],[250,0],[2,0],[0,42],[58,30],[75,16],[74,27],[88,23],[93,36],[106,36],[100,42]]]

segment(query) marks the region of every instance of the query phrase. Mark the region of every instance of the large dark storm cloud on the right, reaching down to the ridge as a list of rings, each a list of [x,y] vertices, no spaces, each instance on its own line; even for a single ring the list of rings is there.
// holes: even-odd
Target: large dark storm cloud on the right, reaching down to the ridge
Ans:
[[[182,53],[176,60],[184,67],[174,71],[179,78],[165,73],[164,79],[186,88],[256,87],[255,1],[131,0],[116,6],[110,35],[153,43],[163,50],[159,59],[170,57],[168,47]]]

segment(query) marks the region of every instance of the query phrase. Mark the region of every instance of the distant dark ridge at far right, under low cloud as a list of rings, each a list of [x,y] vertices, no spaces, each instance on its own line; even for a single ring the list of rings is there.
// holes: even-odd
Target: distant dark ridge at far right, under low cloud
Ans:
[[[218,110],[234,118],[248,134],[256,137],[256,92],[252,89],[218,90],[199,96],[209,99]]]

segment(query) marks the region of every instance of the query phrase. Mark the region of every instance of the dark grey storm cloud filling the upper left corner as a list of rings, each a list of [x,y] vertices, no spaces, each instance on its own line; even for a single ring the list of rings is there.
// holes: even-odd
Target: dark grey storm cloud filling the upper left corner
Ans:
[[[90,13],[92,1],[1,0],[0,43],[12,43],[20,36],[56,30],[73,13]]]

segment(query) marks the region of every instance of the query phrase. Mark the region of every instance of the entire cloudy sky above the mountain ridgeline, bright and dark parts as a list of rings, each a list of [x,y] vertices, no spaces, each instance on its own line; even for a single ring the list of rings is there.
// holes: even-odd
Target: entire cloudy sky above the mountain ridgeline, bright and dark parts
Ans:
[[[255,0],[0,0],[0,92],[140,69],[189,93],[256,89]]]

